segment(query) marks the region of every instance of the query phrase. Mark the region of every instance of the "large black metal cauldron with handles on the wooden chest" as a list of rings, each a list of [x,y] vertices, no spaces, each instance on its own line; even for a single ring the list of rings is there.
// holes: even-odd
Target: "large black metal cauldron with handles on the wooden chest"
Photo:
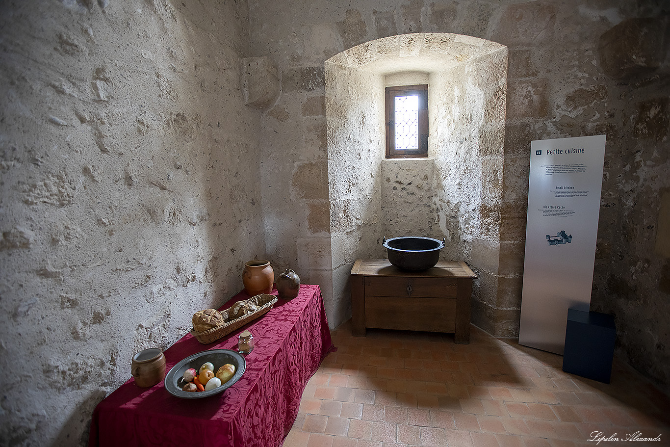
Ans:
[[[444,239],[430,237],[405,236],[384,238],[382,245],[387,249],[389,261],[403,270],[427,270],[440,260],[440,249],[444,248]]]

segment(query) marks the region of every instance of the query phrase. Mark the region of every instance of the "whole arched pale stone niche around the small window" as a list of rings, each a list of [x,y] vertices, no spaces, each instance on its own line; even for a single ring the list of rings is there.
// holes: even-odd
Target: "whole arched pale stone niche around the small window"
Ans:
[[[383,237],[446,238],[442,259],[479,274],[472,321],[496,332],[507,47],[444,33],[393,36],[326,61],[328,182],[336,326],[350,316],[357,258]],[[385,159],[384,89],[427,79],[427,159]]]

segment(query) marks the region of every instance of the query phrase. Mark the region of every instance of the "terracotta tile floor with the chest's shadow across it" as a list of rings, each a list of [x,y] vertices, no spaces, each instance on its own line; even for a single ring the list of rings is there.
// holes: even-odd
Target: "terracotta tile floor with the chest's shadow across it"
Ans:
[[[332,331],[284,447],[670,446],[670,399],[614,359],[612,383],[561,370],[563,357],[472,326],[452,334]],[[588,442],[602,432],[602,442]],[[626,434],[660,442],[623,442]],[[613,440],[618,438],[619,441]]]

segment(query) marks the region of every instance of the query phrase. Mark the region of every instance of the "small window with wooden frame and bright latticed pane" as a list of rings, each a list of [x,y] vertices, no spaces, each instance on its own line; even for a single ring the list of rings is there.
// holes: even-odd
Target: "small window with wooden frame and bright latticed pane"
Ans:
[[[386,88],[386,157],[428,156],[428,86]]]

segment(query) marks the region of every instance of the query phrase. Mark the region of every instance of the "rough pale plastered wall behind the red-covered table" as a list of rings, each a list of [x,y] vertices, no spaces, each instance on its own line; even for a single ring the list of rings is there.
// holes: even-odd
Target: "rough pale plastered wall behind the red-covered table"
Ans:
[[[0,6],[1,446],[86,445],[265,257],[245,2]]]

